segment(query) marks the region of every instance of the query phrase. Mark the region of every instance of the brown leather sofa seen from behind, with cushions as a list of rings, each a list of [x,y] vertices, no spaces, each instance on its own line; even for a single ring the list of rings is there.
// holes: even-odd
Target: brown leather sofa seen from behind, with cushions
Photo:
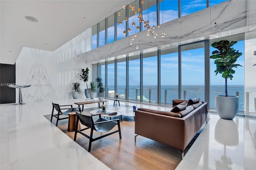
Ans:
[[[182,100],[180,101],[182,102]],[[189,111],[189,113],[183,117],[179,112],[138,108],[135,111],[135,134],[179,149],[183,159],[184,149],[207,121],[208,103],[201,103],[196,107],[193,105],[186,107],[185,111]]]

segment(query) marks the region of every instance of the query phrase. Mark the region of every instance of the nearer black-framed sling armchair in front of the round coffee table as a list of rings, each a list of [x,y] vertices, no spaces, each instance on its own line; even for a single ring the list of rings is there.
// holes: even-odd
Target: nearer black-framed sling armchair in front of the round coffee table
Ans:
[[[76,111],[76,116],[78,117],[78,119],[76,120],[76,131],[75,131],[74,141],[76,141],[77,133],[80,133],[83,136],[85,136],[86,138],[88,138],[89,139],[88,152],[91,151],[92,142],[94,142],[95,140],[104,138],[104,137],[109,136],[110,134],[114,134],[116,132],[119,132],[119,138],[120,139],[122,138],[121,129],[120,129],[120,119],[108,120],[108,119],[102,118],[100,114],[82,115],[82,114],[78,113],[77,111]],[[93,120],[93,117],[95,117],[95,116],[98,117],[98,119],[96,121]],[[82,125],[86,126],[86,128],[78,130],[79,121],[80,121],[80,123],[82,123]],[[118,130],[109,132],[116,125],[118,125]],[[82,132],[83,130],[86,130],[89,128],[91,129],[90,136],[88,136],[87,134]],[[109,133],[99,136],[97,138],[92,138],[93,130],[96,130],[97,132],[100,132],[100,133],[104,133],[104,132],[109,132]]]

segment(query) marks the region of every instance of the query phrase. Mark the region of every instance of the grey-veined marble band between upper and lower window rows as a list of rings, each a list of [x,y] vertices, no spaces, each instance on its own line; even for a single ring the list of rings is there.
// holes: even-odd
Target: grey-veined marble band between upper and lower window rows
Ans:
[[[137,33],[138,36],[132,45],[129,45],[132,36],[103,45],[86,52],[86,56],[90,56],[86,58],[86,63],[152,47],[174,47],[243,33],[246,26],[246,2],[246,0],[226,1],[162,24],[160,28],[156,28],[158,32],[156,39],[153,38],[152,32],[147,36],[145,30]],[[161,37],[162,31],[166,32],[164,38]],[[135,48],[137,44],[139,49]]]

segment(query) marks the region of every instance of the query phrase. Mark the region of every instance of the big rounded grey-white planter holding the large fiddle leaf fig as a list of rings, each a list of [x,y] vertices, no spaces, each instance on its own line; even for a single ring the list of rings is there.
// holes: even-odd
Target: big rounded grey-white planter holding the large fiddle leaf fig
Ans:
[[[239,96],[215,96],[215,106],[220,118],[232,120],[238,113]]]

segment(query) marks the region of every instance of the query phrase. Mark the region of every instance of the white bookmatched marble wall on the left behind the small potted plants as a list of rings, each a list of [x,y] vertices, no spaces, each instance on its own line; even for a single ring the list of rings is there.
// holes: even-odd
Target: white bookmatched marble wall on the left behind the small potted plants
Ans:
[[[22,89],[25,103],[72,98],[70,87],[74,81],[81,82],[84,93],[86,84],[80,80],[80,71],[86,67],[91,69],[91,65],[85,63],[84,53],[91,49],[90,35],[91,29],[88,29],[55,51],[22,48],[16,61],[16,83],[31,85]],[[84,97],[84,94],[80,96]],[[17,89],[16,103],[18,101]]]

